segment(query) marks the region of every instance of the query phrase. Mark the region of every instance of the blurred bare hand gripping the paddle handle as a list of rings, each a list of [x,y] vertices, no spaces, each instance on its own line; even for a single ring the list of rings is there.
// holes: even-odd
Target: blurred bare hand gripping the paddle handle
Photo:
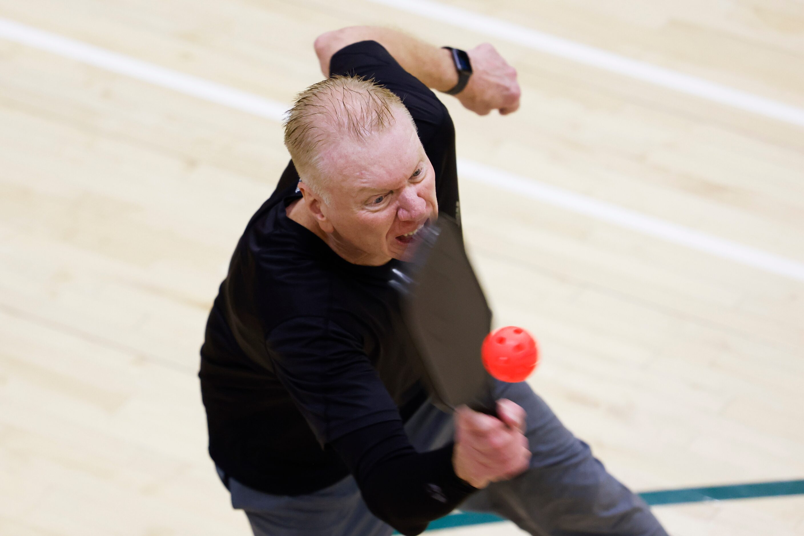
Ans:
[[[527,469],[531,451],[525,411],[511,400],[497,401],[499,419],[466,406],[455,412],[455,474],[475,488],[516,477]]]

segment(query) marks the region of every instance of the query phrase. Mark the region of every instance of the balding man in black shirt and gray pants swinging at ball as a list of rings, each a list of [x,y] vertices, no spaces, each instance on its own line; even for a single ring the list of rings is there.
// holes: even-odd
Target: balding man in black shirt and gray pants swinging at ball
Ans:
[[[458,217],[453,124],[427,86],[511,113],[515,71],[490,45],[467,61],[373,27],[315,50],[328,78],[289,113],[292,162],[237,245],[201,350],[232,505],[257,536],[419,534],[457,505],[531,534],[666,534],[526,383],[495,384],[498,419],[453,419],[419,382],[388,281],[422,225]]]

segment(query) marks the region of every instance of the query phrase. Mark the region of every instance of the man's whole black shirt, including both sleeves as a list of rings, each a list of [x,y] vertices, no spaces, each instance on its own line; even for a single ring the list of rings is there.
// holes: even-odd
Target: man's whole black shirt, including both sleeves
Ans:
[[[344,47],[331,74],[374,78],[402,98],[436,174],[439,210],[457,217],[455,133],[446,108],[379,43]],[[392,268],[348,263],[289,219],[293,163],[252,217],[220,285],[201,349],[210,455],[254,489],[299,495],[348,473],[403,534],[449,513],[474,488],[451,445],[416,452],[403,423],[421,403],[415,347]]]

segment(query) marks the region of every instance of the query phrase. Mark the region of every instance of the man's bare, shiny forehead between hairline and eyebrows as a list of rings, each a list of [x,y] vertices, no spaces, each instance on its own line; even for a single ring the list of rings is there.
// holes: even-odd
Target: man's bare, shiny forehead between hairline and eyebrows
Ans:
[[[395,114],[394,125],[363,140],[343,137],[319,154],[319,170],[327,189],[352,194],[364,188],[389,190],[407,180],[425,156],[416,128],[404,113]]]

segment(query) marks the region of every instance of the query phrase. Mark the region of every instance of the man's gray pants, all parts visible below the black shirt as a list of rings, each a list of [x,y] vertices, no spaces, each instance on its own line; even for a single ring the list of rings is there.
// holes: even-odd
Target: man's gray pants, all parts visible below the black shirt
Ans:
[[[527,383],[499,382],[494,395],[527,411],[531,467],[472,494],[461,510],[496,513],[530,534],[667,536],[645,502],[606,473],[589,445],[572,436]],[[416,450],[439,448],[453,440],[452,415],[425,403],[405,430]],[[389,536],[394,531],[368,510],[352,477],[298,497],[262,493],[232,478],[228,484],[232,506],[244,510],[255,536]]]

